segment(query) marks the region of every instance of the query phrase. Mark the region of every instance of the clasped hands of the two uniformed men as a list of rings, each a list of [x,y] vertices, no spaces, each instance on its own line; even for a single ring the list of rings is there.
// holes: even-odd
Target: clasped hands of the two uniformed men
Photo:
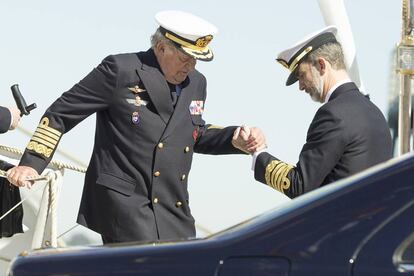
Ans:
[[[266,138],[257,127],[239,126],[233,133],[231,143],[235,148],[249,154],[267,148]]]

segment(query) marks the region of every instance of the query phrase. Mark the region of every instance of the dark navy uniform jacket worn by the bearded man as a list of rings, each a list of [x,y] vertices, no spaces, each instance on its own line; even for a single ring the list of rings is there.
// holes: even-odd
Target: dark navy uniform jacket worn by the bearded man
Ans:
[[[293,198],[391,157],[381,111],[354,83],[345,83],[316,112],[296,167],[263,152],[255,179]]]

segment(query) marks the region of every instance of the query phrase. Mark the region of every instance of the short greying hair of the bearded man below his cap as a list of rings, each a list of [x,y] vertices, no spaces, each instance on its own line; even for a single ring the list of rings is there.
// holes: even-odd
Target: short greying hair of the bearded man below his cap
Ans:
[[[304,60],[312,65],[316,65],[318,58],[326,59],[335,70],[346,70],[344,53],[341,44],[338,42],[327,43],[312,51]]]

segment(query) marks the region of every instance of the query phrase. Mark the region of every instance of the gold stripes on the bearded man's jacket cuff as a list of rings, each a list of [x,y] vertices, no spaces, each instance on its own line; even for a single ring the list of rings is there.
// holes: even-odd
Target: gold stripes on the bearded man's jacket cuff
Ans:
[[[270,187],[285,193],[290,188],[290,180],[288,174],[293,169],[292,165],[285,162],[273,160],[266,166],[265,180]]]

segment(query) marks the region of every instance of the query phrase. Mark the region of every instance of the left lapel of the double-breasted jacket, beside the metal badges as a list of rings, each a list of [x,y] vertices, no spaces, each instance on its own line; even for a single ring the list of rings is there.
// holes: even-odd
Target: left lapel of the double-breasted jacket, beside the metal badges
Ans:
[[[161,119],[168,124],[174,109],[171,102],[170,88],[158,68],[155,55],[149,50],[140,55],[141,68],[137,73],[148,92],[151,102],[160,114]]]

